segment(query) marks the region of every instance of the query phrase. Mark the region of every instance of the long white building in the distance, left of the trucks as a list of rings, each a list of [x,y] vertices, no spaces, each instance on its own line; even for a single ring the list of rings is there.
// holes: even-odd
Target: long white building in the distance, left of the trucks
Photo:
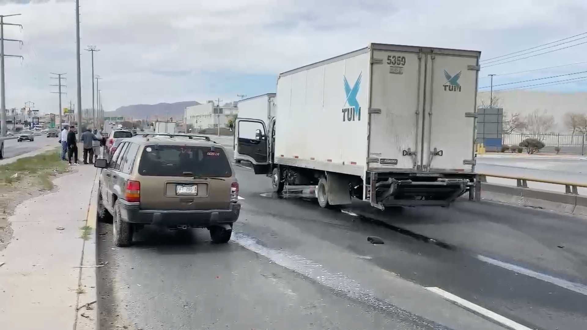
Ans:
[[[218,124],[220,127],[228,127],[228,119],[236,117],[237,113],[236,102],[217,107],[214,101],[208,101],[201,105],[187,107],[185,119],[187,124],[193,125],[197,130],[215,128]]]

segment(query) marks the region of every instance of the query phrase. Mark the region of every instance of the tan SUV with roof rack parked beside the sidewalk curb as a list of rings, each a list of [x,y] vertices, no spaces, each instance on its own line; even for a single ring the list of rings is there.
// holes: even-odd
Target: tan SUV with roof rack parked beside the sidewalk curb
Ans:
[[[102,169],[97,215],[112,216],[116,246],[132,243],[144,225],[176,230],[207,228],[213,243],[227,243],[241,206],[238,182],[224,147],[204,136],[124,139]]]

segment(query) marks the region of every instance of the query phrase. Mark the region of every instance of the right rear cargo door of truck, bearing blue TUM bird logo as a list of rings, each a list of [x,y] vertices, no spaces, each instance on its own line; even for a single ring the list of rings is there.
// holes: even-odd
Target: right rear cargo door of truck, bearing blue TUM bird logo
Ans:
[[[472,171],[478,52],[426,55],[426,99],[419,164],[429,171]],[[419,150],[419,151],[420,151]]]

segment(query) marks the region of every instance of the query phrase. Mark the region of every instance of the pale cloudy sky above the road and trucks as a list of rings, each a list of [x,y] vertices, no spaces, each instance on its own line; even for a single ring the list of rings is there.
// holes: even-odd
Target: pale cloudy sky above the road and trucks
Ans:
[[[279,72],[369,42],[481,50],[488,59],[586,32],[586,13],[584,0],[80,0],[80,35],[83,48],[101,50],[96,74],[103,78],[104,107],[114,110],[274,92]],[[7,54],[24,56],[6,59],[6,107],[30,100],[56,112],[49,72],[67,73],[64,106],[75,100],[75,1],[0,0],[0,14],[22,14],[5,22],[23,25],[22,31],[5,26],[5,38],[24,41],[22,49],[6,42]],[[582,62],[585,50],[587,43],[492,66],[481,76]],[[494,83],[582,70],[587,64],[495,77]],[[92,103],[91,77],[90,53],[82,50],[84,107]],[[545,89],[573,92],[587,84]]]

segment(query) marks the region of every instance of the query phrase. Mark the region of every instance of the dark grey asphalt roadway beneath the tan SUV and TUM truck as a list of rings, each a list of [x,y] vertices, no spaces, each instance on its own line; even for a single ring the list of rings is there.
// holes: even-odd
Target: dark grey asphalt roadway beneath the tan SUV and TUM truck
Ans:
[[[585,329],[583,219],[467,200],[322,209],[235,170],[245,199],[228,244],[145,228],[114,248],[100,224],[102,329],[504,329],[433,287],[530,329]]]

